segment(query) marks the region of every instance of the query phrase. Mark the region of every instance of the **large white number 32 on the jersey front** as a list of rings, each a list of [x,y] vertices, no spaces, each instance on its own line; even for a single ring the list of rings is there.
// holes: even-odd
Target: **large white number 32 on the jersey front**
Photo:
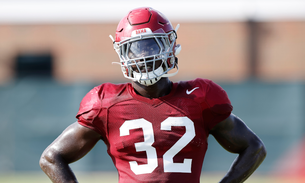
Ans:
[[[184,159],[183,163],[174,163],[173,157],[195,137],[195,127],[188,117],[168,117],[161,123],[161,130],[171,130],[172,126],[185,126],[185,134],[163,155],[164,172],[191,173],[192,159]],[[135,143],[136,151],[146,151],[147,164],[138,165],[130,161],[130,168],[136,174],[148,174],[158,166],[156,149],[151,145],[155,142],[152,123],[145,119],[125,121],[120,127],[120,136],[129,135],[129,130],[142,128],[144,142]]]

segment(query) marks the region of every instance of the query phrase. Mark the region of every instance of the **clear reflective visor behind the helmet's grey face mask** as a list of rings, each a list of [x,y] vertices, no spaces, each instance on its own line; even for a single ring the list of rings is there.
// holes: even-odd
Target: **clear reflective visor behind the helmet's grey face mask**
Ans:
[[[162,54],[164,52],[165,52],[165,46],[163,44],[162,38],[149,38],[149,39],[142,39],[139,41],[131,42],[127,54],[129,59],[138,59],[142,57]],[[153,57],[148,58],[146,60],[152,60],[152,59]]]

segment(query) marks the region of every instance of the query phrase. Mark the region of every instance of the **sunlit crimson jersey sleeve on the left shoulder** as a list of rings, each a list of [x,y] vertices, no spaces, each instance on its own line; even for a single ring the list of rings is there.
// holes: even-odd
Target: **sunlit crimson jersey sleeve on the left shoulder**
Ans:
[[[99,98],[99,88],[95,87],[81,101],[76,118],[79,124],[96,131],[104,137],[102,131],[94,124],[94,120],[101,110],[101,106],[102,102]]]

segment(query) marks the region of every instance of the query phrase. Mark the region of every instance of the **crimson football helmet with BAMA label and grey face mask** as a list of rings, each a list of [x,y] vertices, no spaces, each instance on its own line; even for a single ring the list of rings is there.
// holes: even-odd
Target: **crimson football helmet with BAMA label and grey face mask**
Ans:
[[[178,28],[179,24],[174,30],[166,16],[152,8],[129,11],[117,26],[115,40],[109,35],[124,76],[148,86],[161,77],[176,75],[178,59],[175,56],[181,50],[176,45]],[[166,74],[175,66],[177,72]]]

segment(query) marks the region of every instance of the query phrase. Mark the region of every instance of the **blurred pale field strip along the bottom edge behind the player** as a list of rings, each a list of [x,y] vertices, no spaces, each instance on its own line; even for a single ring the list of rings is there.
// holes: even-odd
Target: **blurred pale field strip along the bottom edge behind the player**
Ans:
[[[118,174],[116,172],[76,172],[76,177],[80,183],[117,183]],[[217,183],[223,174],[202,173],[201,183]],[[49,178],[41,172],[23,172],[0,174],[1,183],[51,183]],[[304,183],[302,178],[278,178],[267,175],[252,175],[247,183]]]

